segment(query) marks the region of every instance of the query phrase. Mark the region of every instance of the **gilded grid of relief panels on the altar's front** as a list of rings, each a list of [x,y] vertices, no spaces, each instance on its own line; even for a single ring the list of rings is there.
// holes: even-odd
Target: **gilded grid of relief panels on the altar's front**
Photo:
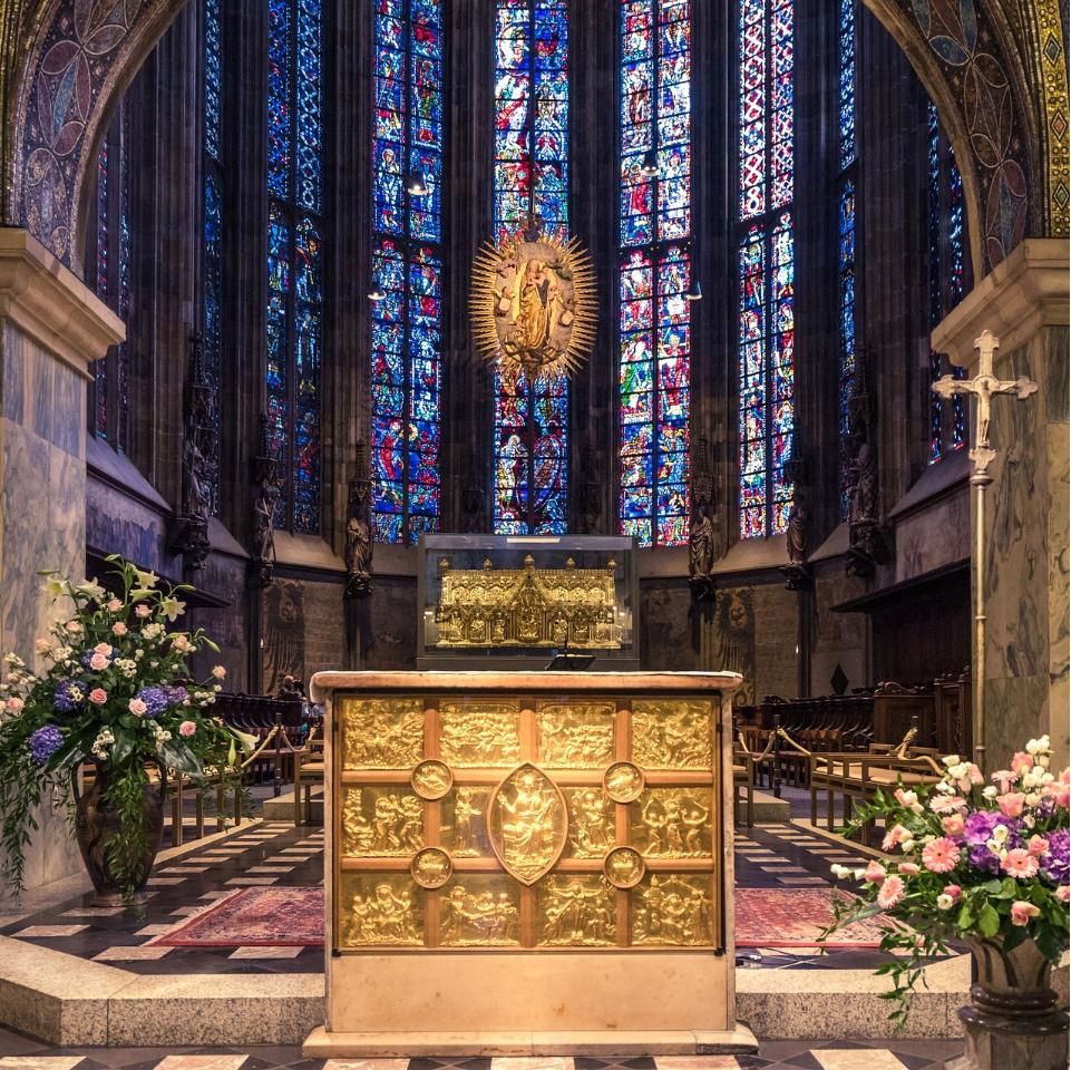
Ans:
[[[719,945],[715,701],[338,709],[341,951]]]

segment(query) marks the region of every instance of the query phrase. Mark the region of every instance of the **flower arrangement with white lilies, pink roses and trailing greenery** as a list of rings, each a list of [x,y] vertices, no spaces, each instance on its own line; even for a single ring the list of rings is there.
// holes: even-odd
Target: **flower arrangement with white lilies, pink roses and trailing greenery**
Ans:
[[[43,593],[62,615],[38,639],[32,671],[17,654],[4,658],[0,682],[0,875],[16,894],[23,888],[25,852],[33,810],[46,788],[74,787],[84,762],[97,766],[105,785],[101,805],[116,816],[107,862],[125,896],[148,876],[150,836],[143,799],[149,770],[194,779],[206,762],[234,766],[240,733],[210,716],[225,671],[207,682],[191,679],[187,659],[202,649],[218,652],[201,629],[173,629],[185,611],[186,585],[163,587],[157,576],[119,557],[109,594],[96,580],[71,583],[45,575]],[[149,854],[155,854],[155,847]]]

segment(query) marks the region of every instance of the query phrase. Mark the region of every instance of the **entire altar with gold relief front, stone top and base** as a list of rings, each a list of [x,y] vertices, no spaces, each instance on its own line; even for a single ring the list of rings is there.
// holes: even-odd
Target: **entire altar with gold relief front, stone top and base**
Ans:
[[[732,990],[739,684],[317,674],[328,999],[305,1053],[746,1050]]]

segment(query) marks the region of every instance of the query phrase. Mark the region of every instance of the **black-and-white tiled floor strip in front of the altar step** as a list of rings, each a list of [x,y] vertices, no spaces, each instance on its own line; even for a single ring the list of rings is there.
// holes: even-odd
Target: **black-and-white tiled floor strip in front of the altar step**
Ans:
[[[0,1029],[0,1070],[938,1070],[950,1041],[769,1041],[758,1056],[653,1059],[302,1059],[279,1048],[43,1048]]]

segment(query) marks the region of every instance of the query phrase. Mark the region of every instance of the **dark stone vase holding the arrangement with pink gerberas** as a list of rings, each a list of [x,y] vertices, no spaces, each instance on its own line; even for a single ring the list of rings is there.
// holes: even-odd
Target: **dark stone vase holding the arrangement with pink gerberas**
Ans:
[[[970,940],[978,980],[961,1006],[965,1051],[950,1070],[1067,1070],[1068,1012],[1057,1006],[1052,963],[1032,940]]]

